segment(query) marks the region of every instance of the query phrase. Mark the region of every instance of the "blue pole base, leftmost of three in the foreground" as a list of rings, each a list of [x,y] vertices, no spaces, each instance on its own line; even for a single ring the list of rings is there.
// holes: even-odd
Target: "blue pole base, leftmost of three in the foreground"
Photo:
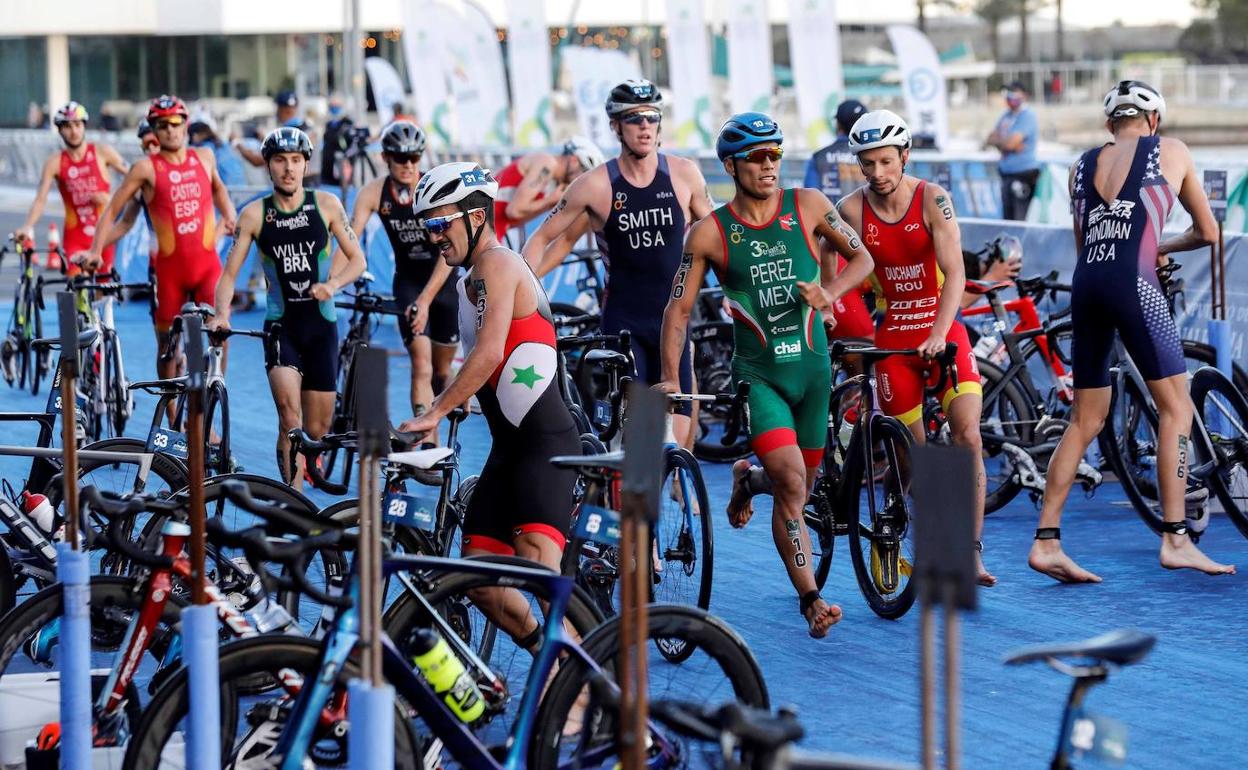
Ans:
[[[59,644],[61,668],[61,768],[91,768],[91,570],[86,553],[56,544],[56,578],[65,592]]]

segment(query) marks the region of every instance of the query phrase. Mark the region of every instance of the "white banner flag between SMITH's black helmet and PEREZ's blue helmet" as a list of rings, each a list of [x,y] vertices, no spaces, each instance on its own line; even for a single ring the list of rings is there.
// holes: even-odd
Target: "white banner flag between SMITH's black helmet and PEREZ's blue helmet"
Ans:
[[[678,147],[710,147],[718,127],[710,116],[708,34],[703,0],[668,0],[668,71]]]

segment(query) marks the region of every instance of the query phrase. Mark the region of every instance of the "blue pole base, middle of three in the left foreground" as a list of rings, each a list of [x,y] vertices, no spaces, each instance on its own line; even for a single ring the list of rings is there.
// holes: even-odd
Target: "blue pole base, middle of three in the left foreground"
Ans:
[[[217,610],[212,604],[182,609],[182,645],[191,684],[191,724],[186,738],[191,770],[221,768],[221,675]]]

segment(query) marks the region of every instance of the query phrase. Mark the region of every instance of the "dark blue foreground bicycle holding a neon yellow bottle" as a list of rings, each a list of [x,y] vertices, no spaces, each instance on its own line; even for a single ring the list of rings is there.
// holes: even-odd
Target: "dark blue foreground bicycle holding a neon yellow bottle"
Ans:
[[[282,517],[281,510],[255,505],[242,495],[237,502],[266,519]],[[327,532],[328,534],[332,533]],[[336,534],[343,544],[349,544],[352,540],[351,535],[341,530]],[[302,543],[275,547],[258,530],[235,533],[233,542],[257,560],[290,558],[303,548]],[[383,669],[397,695],[396,766],[414,769],[427,750],[432,756],[446,750],[464,766],[472,768],[559,766],[560,741],[568,725],[567,711],[577,700],[579,685],[587,679],[585,671],[594,674],[603,670],[585,651],[585,646],[569,638],[565,628],[564,618],[573,595],[573,582],[539,568],[488,560],[454,560],[421,555],[384,559],[387,573],[401,569],[433,575],[468,574],[492,580],[494,585],[533,587],[547,597],[548,604],[545,623],[538,626],[540,646],[528,670],[515,719],[507,730],[507,743],[498,749],[497,755],[479,739],[477,731],[482,728],[474,730],[456,716],[423,676],[412,670],[399,646],[389,636],[383,638]],[[297,574],[292,575],[297,579]],[[272,578],[273,575],[268,577]],[[353,569],[348,580],[348,587],[341,597],[324,597],[332,599],[341,609],[333,628],[319,643],[270,636],[246,639],[222,648],[220,670],[223,735],[232,741],[226,746],[227,761],[245,759],[257,761],[263,758],[262,761],[270,765],[302,768],[306,758],[324,764],[342,764],[347,760],[344,685],[346,676],[356,670],[352,649],[358,639],[353,602],[358,589]],[[765,705],[765,684],[759,676],[756,663],[740,639],[721,624],[705,619],[696,610],[676,608],[676,614],[680,616],[679,630],[690,636],[691,641],[696,640],[699,649],[706,651],[708,656],[718,655],[713,660],[720,666],[733,694],[746,703]],[[661,608],[653,610],[651,616],[658,618],[656,621],[651,621],[651,629],[658,626],[668,630],[669,626],[676,625],[673,616]],[[484,720],[483,726],[497,720],[499,708],[505,706],[509,700],[505,681],[488,668],[479,665],[480,660],[472,654],[454,628],[439,613],[428,612],[423,628],[437,629],[468,668],[473,680],[484,683],[482,696],[485,715],[479,718]],[[671,630],[675,633],[678,629]],[[589,634],[587,643],[594,639],[595,634],[605,631],[599,629]],[[560,663],[559,671],[550,680],[560,655],[565,660]],[[298,676],[291,676],[290,671]],[[252,688],[258,703],[248,704],[241,700],[248,694],[245,693],[246,688],[236,684],[240,681],[267,681],[268,686]],[[296,691],[292,693],[292,689]],[[555,699],[555,693],[560,694],[559,699]],[[142,720],[127,745],[125,766],[147,770],[161,766],[161,759],[165,756],[162,751],[175,753],[176,756],[181,743],[177,739],[183,729],[187,708],[188,681],[183,669],[156,693],[144,711]],[[433,740],[428,743],[421,740],[411,724],[412,715],[419,715]],[[243,716],[245,724],[240,723],[240,718]],[[664,755],[666,745],[661,734],[656,735],[654,754],[659,758],[668,756]],[[610,745],[589,749],[593,751],[589,756],[574,760],[588,760],[592,756],[600,764],[602,759],[615,753],[614,739],[610,740]]]

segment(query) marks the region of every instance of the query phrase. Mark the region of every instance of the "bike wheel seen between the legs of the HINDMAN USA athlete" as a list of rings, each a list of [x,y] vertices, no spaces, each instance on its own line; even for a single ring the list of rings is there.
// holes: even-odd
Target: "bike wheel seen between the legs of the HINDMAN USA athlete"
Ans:
[[[1109,414],[1101,431],[1101,452],[1109,462],[1136,514],[1161,534],[1162,507],[1157,483],[1157,408],[1134,379],[1119,377],[1109,397]]]

